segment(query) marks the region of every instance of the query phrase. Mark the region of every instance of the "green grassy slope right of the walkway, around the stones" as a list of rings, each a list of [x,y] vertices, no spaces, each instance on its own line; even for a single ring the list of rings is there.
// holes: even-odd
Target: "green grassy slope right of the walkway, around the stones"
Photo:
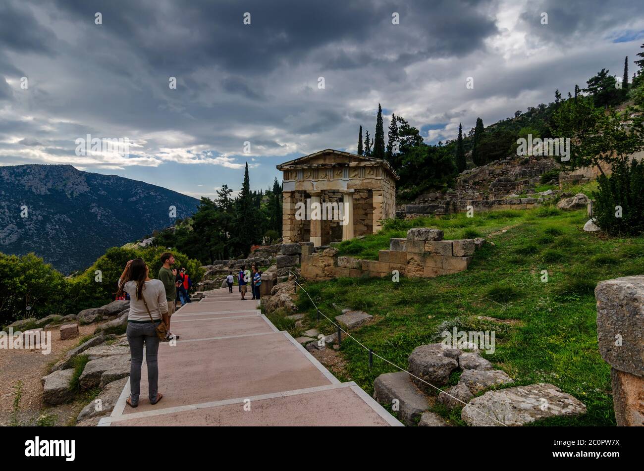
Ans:
[[[615,425],[611,368],[598,351],[594,288],[601,280],[644,272],[644,237],[609,239],[583,232],[585,210],[542,207],[500,213],[393,221],[379,234],[341,245],[341,254],[349,255],[350,247],[350,255],[365,257],[388,248],[389,237],[404,237],[410,227],[442,228],[446,239],[462,236],[464,229],[477,230],[495,246],[477,250],[465,272],[434,279],[403,277],[400,282],[334,279],[305,287],[331,318],[339,313],[333,303],[374,315],[374,322],[354,336],[403,368],[415,347],[440,342],[440,332],[453,326],[495,330],[496,351],[486,358],[515,385],[553,383],[587,405],[583,416],[535,425]],[[542,282],[542,270],[547,282]],[[296,305],[321,333],[332,333],[327,320],[316,324],[315,309],[304,293]],[[478,316],[518,322],[497,324]],[[370,369],[368,352],[351,340],[342,342],[341,355],[346,379],[370,394],[379,374],[397,371],[377,358]],[[462,425],[458,411],[433,410]]]

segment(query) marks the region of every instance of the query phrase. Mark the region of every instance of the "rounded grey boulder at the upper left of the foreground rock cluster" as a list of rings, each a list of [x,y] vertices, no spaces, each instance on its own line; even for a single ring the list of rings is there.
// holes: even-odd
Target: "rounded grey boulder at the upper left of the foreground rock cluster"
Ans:
[[[442,349],[440,344],[421,345],[416,347],[409,356],[409,372],[422,379],[412,378],[412,381],[424,393],[435,393],[435,388],[448,382],[452,371],[459,367],[457,362],[459,349]],[[427,382],[427,383],[426,383]]]

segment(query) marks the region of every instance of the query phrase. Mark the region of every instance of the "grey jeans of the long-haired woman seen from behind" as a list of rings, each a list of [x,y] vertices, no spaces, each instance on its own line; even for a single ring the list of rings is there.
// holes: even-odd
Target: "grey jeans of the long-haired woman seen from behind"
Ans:
[[[156,337],[155,324],[147,322],[138,324],[128,322],[129,353],[132,357],[129,367],[130,402],[138,404],[141,390],[141,365],[143,364],[143,345],[146,345],[147,392],[151,403],[156,402],[159,369],[156,355],[159,350],[159,338]]]

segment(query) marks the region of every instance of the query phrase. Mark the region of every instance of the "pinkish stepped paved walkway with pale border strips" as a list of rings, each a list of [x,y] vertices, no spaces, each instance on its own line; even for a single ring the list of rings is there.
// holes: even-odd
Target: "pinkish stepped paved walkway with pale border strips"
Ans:
[[[159,391],[147,400],[144,362],[136,409],[129,382],[100,426],[402,425],[354,382],[341,383],[254,300],[235,289],[209,291],[172,317],[173,346],[160,344]]]

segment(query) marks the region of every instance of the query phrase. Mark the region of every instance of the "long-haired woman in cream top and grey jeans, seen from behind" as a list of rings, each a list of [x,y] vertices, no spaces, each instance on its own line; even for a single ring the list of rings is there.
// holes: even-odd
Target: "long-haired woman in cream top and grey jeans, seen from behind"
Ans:
[[[118,295],[130,295],[128,330],[130,394],[126,401],[131,407],[137,407],[140,395],[141,365],[143,364],[143,346],[146,346],[147,393],[151,404],[161,400],[158,393],[158,362],[156,361],[159,338],[156,326],[160,322],[169,324],[166,288],[160,280],[149,277],[149,268],[143,259],[130,260],[118,280]]]

